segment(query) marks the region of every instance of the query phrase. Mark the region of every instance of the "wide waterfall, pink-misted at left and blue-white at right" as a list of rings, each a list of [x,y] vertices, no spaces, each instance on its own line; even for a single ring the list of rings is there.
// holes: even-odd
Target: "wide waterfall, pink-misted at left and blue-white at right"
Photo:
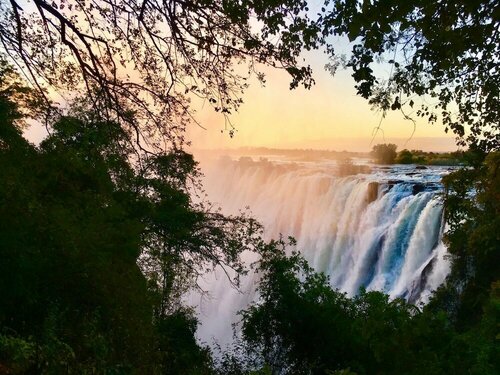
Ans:
[[[338,177],[332,162],[249,158],[202,168],[208,197],[224,213],[250,207],[266,238],[295,237],[308,262],[349,295],[366,288],[426,302],[449,271],[439,194],[446,168],[380,167]],[[235,291],[222,272],[208,276],[211,299],[192,301],[200,307],[202,340],[230,341],[237,311],[255,296],[255,278]]]

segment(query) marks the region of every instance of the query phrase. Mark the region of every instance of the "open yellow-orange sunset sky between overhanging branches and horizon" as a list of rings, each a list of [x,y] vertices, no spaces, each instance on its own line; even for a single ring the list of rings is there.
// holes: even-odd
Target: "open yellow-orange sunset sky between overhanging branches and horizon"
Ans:
[[[345,51],[347,52],[347,51]],[[340,51],[342,53],[342,51]],[[194,149],[232,149],[239,147],[313,148],[347,151],[369,151],[377,143],[396,143],[398,149],[453,151],[457,147],[442,124],[417,119],[413,123],[398,112],[383,119],[372,142],[372,132],[381,114],[370,108],[367,100],[356,95],[354,80],[348,70],[339,69],[335,76],[326,72],[327,58],[316,52],[306,56],[316,85],[310,90],[289,89],[290,77],[284,71],[265,69],[264,87],[253,79],[243,96],[244,104],[231,116],[236,128],[233,138],[224,129],[224,118],[207,104],[193,103],[196,118],[206,130],[192,126],[188,139]],[[381,70],[381,74],[390,75]]]

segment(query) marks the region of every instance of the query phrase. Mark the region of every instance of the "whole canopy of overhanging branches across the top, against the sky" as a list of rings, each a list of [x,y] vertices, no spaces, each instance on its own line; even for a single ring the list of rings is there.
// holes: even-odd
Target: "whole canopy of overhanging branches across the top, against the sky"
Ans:
[[[264,81],[260,64],[286,70],[292,88],[310,87],[311,69],[299,57],[323,47],[328,69],[351,68],[358,94],[384,114],[442,122],[461,143],[499,147],[493,0],[324,0],[314,11],[304,0],[33,4],[2,3],[2,51],[40,88],[100,88],[122,125],[145,137],[182,141],[196,97],[228,116],[251,73]],[[336,36],[351,42],[348,56],[336,55]],[[390,65],[388,76],[380,63]],[[140,121],[129,121],[129,109]]]

